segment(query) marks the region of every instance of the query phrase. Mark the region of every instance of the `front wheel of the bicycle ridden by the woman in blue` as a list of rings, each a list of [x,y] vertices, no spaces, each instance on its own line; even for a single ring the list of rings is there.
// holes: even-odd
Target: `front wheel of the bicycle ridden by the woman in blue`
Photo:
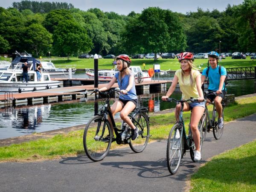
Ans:
[[[108,120],[102,116],[93,116],[84,128],[84,151],[90,160],[100,161],[111,146],[112,133]]]

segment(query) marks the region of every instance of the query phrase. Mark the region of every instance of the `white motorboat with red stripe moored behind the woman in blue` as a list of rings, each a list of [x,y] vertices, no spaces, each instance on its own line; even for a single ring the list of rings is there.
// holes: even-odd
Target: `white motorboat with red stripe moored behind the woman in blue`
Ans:
[[[148,73],[143,72],[140,66],[130,66],[129,69],[134,73],[135,80],[137,80],[139,74],[142,74],[141,79],[143,79],[143,81],[151,81],[151,77],[148,75]],[[112,79],[117,72],[117,68],[113,70],[99,70],[98,77],[99,79]],[[87,76],[89,76],[89,78],[94,78],[94,70],[85,69],[85,73]]]

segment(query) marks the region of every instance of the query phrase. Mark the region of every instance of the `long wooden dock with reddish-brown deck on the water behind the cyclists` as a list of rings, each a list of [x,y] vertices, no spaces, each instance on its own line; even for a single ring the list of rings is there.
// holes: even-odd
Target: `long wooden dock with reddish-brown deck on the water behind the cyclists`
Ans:
[[[137,94],[145,94],[151,92],[160,92],[166,90],[167,81],[148,81],[136,83]],[[99,84],[99,87],[105,87],[107,84]],[[113,84],[112,88],[118,87]],[[91,93],[95,89],[93,84],[80,85],[73,87],[59,87],[47,90],[38,90],[29,93],[8,93],[0,95],[0,108],[18,106],[18,105],[34,105],[49,102],[58,102],[71,99],[84,98],[87,93]]]

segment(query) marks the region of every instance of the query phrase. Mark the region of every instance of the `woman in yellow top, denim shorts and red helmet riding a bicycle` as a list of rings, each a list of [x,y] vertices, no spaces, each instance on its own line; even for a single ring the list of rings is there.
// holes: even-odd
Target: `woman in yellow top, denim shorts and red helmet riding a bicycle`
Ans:
[[[175,90],[177,83],[179,82],[180,91],[182,92],[183,100],[198,99],[199,102],[184,102],[183,111],[191,112],[191,121],[190,128],[193,135],[193,140],[195,142],[195,156],[194,160],[201,160],[201,151],[200,151],[200,133],[198,131],[198,122],[201,119],[201,116],[204,113],[204,94],[201,89],[201,74],[198,70],[193,69],[193,54],[190,52],[183,52],[179,55],[178,59],[180,62],[180,70],[177,70],[172,81],[172,85],[166,93],[166,96],[162,96],[162,100],[166,101]],[[176,106],[175,116],[178,116],[178,113],[181,109],[181,105]]]

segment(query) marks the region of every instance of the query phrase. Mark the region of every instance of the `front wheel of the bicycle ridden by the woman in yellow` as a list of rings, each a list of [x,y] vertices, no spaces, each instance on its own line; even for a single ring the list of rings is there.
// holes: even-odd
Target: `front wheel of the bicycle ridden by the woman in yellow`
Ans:
[[[180,160],[181,156],[183,155],[183,144],[184,144],[184,138],[183,138],[183,131],[180,131],[180,125],[175,124],[173,125],[167,142],[167,148],[166,148],[166,163],[169,172],[174,175],[180,166]],[[180,137],[176,137],[176,132],[179,131]]]

